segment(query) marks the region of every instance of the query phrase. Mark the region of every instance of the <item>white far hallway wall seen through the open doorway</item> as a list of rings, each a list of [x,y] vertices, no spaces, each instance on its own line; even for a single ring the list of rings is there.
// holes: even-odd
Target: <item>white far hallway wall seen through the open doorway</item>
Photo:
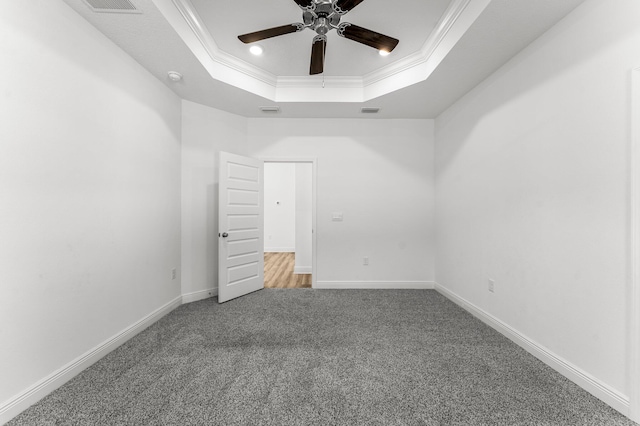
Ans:
[[[264,251],[296,250],[296,165],[264,164]]]

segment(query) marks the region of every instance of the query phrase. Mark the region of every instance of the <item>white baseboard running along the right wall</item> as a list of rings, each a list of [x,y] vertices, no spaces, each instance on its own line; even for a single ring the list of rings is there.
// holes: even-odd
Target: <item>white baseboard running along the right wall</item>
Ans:
[[[438,293],[442,294],[444,297],[451,300],[456,305],[460,306],[465,311],[469,312],[474,317],[487,324],[489,327],[500,332],[509,340],[522,347],[531,355],[535,356],[540,361],[544,362],[549,367],[553,368],[558,373],[562,374],[563,376],[580,386],[582,389],[589,392],[591,395],[609,404],[611,407],[615,408],[625,416],[629,416],[629,398],[626,395],[623,395],[617,390],[611,388],[602,381],[591,376],[586,371],[573,365],[564,358],[556,355],[546,347],[531,340],[510,325],[502,322],[498,318],[480,309],[469,301],[463,299],[462,297],[458,296],[442,285],[435,283],[435,289],[438,291]]]

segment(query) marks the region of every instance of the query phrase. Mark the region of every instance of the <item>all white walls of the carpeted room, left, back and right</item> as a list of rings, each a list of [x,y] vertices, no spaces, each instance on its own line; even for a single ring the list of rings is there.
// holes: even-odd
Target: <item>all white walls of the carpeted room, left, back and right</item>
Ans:
[[[439,284],[623,396],[639,17],[588,0],[436,125]],[[320,283],[434,279],[432,121],[181,104],[62,2],[4,2],[0,57],[0,404],[216,286],[221,150],[318,159]]]

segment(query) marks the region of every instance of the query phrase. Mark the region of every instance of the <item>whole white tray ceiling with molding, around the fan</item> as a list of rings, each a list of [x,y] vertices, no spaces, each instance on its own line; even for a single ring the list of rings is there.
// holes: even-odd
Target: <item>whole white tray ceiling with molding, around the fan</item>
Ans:
[[[365,0],[342,21],[400,44],[381,57],[331,37],[318,76],[306,75],[310,30],[260,42],[262,57],[237,39],[299,22],[293,0],[130,0],[139,13],[64,1],[186,100],[247,117],[278,105],[278,117],[362,117],[371,106],[380,113],[366,118],[433,118],[584,0]]]

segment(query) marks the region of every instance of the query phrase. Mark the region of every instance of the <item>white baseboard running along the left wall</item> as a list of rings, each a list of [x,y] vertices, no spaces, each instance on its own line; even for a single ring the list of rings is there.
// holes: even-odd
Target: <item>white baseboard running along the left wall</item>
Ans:
[[[72,378],[90,367],[109,352],[158,321],[169,312],[180,306],[182,296],[151,312],[138,322],[125,328],[95,348],[85,352],[62,368],[54,371],[44,379],[0,405],[0,424],[5,424]]]

